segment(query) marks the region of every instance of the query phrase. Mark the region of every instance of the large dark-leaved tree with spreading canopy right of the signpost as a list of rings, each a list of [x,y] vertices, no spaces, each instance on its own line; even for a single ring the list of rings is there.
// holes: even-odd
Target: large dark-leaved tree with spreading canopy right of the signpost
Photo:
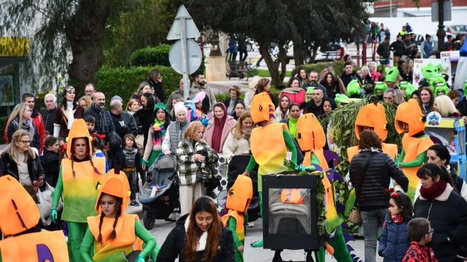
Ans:
[[[291,41],[296,64],[303,64],[305,52],[316,52],[317,47],[359,28],[367,19],[364,3],[362,0],[188,0],[186,6],[203,28],[252,37],[259,44],[272,83],[281,85],[286,74],[286,47]],[[269,54],[271,43],[278,44],[277,61]]]

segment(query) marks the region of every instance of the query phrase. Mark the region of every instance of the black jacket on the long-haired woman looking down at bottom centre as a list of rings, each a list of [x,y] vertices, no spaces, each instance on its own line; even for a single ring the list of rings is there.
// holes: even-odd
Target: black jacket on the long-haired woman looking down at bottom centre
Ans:
[[[164,244],[157,255],[157,262],[174,262],[178,257],[179,262],[185,262],[184,248],[186,244],[185,221],[188,214],[181,216],[176,222],[176,226],[165,239]],[[234,262],[234,244],[232,231],[227,227],[222,228],[222,235],[219,241],[219,251],[215,255],[213,261],[210,262]],[[198,251],[195,261],[203,261],[204,251]]]

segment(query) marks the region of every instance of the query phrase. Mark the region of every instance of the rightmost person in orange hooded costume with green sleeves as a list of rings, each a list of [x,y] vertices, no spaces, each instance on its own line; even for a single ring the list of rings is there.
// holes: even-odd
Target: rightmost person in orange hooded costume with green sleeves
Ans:
[[[407,195],[415,201],[415,189],[420,179],[418,169],[427,162],[427,151],[433,145],[424,131],[424,117],[417,101],[410,99],[399,105],[395,112],[395,130],[405,133],[402,138],[403,151],[396,162],[399,162],[404,174],[409,179]]]

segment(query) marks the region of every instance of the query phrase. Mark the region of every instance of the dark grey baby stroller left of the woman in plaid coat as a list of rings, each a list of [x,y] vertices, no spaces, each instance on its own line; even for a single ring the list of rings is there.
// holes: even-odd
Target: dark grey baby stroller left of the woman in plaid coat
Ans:
[[[147,230],[154,227],[156,219],[167,219],[180,207],[179,177],[174,155],[159,155],[147,172],[147,180],[138,198],[142,203],[142,222]]]

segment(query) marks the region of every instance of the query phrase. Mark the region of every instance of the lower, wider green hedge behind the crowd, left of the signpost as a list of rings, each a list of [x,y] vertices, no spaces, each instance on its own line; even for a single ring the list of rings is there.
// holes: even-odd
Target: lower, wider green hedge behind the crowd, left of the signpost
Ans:
[[[157,69],[162,74],[162,88],[164,95],[169,97],[170,93],[179,88],[181,74],[167,66],[139,66],[130,68],[111,68],[103,66],[97,71],[97,86],[99,91],[106,94],[107,102],[113,95],[120,95],[125,106],[133,93],[137,91],[138,85],[147,80],[147,75]],[[165,102],[165,101],[164,101]]]

